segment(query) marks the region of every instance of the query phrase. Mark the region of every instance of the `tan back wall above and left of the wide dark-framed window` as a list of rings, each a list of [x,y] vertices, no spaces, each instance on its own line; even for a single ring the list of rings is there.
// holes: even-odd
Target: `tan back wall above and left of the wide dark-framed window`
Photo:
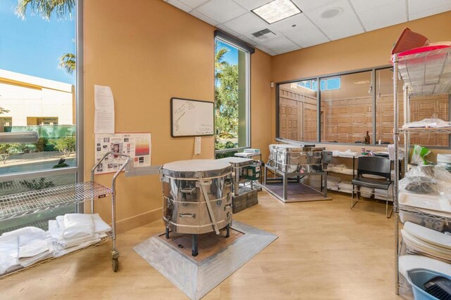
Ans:
[[[451,12],[374,30],[326,44],[273,56],[272,80],[288,81],[335,72],[388,65],[393,43],[404,27],[431,41],[451,41]],[[276,107],[276,89],[271,106]],[[271,115],[272,141],[276,138],[276,114]]]

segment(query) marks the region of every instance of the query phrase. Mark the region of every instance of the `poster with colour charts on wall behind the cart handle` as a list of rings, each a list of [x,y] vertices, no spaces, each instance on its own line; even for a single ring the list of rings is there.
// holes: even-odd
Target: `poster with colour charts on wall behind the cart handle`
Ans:
[[[130,155],[133,167],[150,167],[151,164],[150,133],[113,133],[95,135],[95,157],[99,162],[106,152],[118,152]],[[95,174],[106,174],[118,171],[124,164],[125,157],[109,155],[99,164]]]

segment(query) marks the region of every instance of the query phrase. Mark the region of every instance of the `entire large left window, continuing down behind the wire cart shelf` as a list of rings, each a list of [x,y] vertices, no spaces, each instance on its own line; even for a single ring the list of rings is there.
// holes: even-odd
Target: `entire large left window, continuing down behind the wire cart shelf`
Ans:
[[[0,2],[1,196],[81,179],[82,72],[75,70],[81,7],[76,0]],[[23,133],[37,138],[18,138]],[[47,219],[75,210],[70,205],[1,221],[0,231],[27,223],[45,228]]]

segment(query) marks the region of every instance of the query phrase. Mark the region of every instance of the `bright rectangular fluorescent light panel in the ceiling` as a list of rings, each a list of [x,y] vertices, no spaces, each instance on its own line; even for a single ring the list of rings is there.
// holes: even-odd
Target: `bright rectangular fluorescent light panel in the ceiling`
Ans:
[[[255,8],[252,10],[252,13],[258,15],[268,24],[272,24],[302,13],[302,11],[291,0],[274,0],[264,6]]]

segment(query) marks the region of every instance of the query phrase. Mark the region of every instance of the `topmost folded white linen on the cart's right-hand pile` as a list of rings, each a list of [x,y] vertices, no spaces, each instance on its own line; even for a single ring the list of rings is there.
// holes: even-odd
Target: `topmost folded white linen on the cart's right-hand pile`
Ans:
[[[89,214],[64,215],[64,238],[92,237],[93,234],[94,222]]]

